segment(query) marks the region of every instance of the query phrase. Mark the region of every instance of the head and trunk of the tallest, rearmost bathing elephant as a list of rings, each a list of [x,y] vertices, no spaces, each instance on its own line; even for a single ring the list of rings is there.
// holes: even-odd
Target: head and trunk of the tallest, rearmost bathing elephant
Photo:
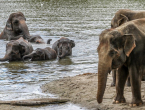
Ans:
[[[24,39],[29,39],[29,30],[26,25],[26,18],[22,12],[12,13],[6,23],[5,31],[11,32],[13,34],[12,37],[23,35]],[[15,38],[9,38],[13,40]]]

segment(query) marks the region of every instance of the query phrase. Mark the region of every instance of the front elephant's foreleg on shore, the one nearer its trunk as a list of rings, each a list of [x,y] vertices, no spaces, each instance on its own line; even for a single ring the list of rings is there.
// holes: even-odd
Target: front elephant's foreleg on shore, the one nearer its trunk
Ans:
[[[124,98],[124,86],[128,77],[128,68],[122,66],[116,72],[116,97],[114,99],[114,104],[125,103]]]

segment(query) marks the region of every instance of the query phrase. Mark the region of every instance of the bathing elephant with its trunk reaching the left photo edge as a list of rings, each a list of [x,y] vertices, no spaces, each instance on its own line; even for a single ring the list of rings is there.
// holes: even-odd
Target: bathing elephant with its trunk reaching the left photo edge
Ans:
[[[20,37],[18,40],[11,40],[6,44],[6,54],[0,58],[0,61],[21,61],[24,55],[32,51],[32,45]]]

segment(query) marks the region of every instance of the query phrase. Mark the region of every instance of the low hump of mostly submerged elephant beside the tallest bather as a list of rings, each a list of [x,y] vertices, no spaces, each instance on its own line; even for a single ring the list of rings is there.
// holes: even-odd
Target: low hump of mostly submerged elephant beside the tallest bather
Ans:
[[[28,41],[32,43],[37,43],[37,44],[45,43],[44,40],[39,35],[33,35],[33,36],[31,35]]]

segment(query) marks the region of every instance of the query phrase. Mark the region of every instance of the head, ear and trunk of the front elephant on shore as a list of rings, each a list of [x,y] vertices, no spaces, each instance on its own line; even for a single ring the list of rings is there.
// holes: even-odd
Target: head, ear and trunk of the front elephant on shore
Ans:
[[[115,29],[103,31],[100,34],[99,42],[97,48],[99,55],[97,101],[101,103],[108,73],[125,64],[136,44],[133,35],[123,34]]]

